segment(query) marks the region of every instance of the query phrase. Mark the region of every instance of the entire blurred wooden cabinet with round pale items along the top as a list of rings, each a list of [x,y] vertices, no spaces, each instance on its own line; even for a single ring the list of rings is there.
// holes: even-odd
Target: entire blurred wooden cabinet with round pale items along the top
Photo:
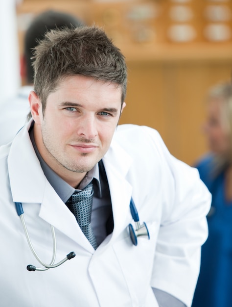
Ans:
[[[156,128],[188,164],[207,151],[204,99],[232,75],[231,0],[24,0],[17,7],[21,51],[26,24],[48,8],[104,26],[126,56],[120,124]]]

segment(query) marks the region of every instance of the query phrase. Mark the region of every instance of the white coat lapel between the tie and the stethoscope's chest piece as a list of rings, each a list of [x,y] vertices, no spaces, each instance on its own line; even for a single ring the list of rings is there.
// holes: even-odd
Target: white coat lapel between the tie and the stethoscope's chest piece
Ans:
[[[116,143],[112,142],[108,153],[103,158],[109,183],[114,218],[112,240],[125,228],[130,216],[130,200],[132,186],[125,179],[131,165],[132,158]]]

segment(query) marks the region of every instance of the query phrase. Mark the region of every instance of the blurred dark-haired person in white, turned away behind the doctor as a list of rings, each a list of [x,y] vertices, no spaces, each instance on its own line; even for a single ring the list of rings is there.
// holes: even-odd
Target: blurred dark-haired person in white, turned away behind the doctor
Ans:
[[[7,99],[0,104],[0,145],[14,138],[26,122],[29,113],[28,95],[33,90],[32,50],[44,38],[48,30],[55,28],[82,26],[81,20],[73,15],[47,10],[40,13],[26,30],[24,37],[24,54],[20,59],[20,74],[25,85],[19,90],[17,97]]]

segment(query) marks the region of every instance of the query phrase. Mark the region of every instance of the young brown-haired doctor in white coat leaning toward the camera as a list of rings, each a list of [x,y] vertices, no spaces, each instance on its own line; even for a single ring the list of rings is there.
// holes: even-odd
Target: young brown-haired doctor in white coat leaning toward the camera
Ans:
[[[98,27],[53,30],[33,67],[32,119],[0,149],[2,306],[190,307],[210,194],[157,131],[117,127],[123,55]]]

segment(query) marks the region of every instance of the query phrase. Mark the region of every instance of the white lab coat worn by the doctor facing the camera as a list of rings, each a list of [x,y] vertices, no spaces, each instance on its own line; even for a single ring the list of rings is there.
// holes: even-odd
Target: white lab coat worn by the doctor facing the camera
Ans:
[[[151,287],[191,305],[199,272],[200,245],[207,238],[210,194],[196,169],[174,158],[154,129],[119,126],[103,158],[109,181],[114,231],[93,250],[74,215],[47,181],[23,128],[0,148],[0,305],[2,307],[158,307]],[[150,240],[128,233],[133,197]],[[34,248],[56,261],[44,272],[32,255],[14,202],[23,203]]]

